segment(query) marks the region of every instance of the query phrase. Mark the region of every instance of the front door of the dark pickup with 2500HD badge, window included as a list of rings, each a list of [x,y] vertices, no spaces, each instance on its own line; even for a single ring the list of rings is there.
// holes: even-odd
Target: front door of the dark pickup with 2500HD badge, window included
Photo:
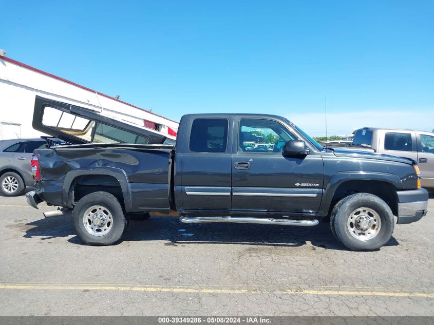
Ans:
[[[282,144],[297,137],[277,120],[239,117],[235,127],[232,210],[316,213],[323,193],[324,168],[319,152],[311,150],[310,155],[302,157],[282,155]],[[246,141],[247,133],[262,142]]]

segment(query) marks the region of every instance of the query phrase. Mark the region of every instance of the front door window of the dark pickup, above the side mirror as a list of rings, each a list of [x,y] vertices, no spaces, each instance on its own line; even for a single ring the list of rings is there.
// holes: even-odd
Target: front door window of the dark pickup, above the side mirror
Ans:
[[[238,152],[282,152],[285,143],[297,138],[273,120],[241,119]]]

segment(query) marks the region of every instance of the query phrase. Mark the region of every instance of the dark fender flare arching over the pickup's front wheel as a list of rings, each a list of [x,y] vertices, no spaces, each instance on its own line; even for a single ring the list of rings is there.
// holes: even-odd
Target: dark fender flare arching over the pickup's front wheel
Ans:
[[[393,188],[403,189],[401,179],[397,175],[388,173],[367,173],[366,171],[344,171],[332,175],[327,183],[318,214],[327,216],[336,189],[347,181],[378,181],[392,185]]]

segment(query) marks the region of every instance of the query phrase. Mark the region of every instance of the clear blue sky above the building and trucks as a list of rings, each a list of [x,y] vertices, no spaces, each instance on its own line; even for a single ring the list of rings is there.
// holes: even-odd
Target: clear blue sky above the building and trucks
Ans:
[[[7,56],[171,119],[434,128],[434,1],[3,1]]]

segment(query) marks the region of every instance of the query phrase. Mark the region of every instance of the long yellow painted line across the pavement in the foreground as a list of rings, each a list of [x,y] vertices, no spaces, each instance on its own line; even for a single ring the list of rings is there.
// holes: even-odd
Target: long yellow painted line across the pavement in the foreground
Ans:
[[[172,293],[214,293],[214,294],[305,294],[305,295],[354,295],[354,296],[388,296],[388,297],[422,297],[434,298],[434,294],[418,292],[379,292],[379,291],[342,291],[342,290],[283,290],[262,291],[250,289],[216,289],[216,288],[182,288],[158,286],[103,286],[103,285],[55,285],[55,284],[0,284],[0,290],[96,290],[96,291],[142,291]]]

